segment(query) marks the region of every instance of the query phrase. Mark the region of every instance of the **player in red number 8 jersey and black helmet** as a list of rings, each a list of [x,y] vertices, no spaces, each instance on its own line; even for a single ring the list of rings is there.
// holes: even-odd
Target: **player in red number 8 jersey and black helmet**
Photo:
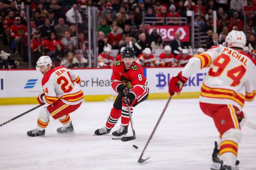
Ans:
[[[110,133],[121,116],[121,126],[112,133],[112,139],[121,139],[128,133],[130,117],[126,103],[130,106],[131,114],[133,108],[147,99],[149,88],[147,78],[144,77],[142,67],[135,62],[135,50],[126,47],[122,53],[122,60],[114,63],[111,76],[111,86],[117,95],[114,107],[111,109],[106,126],[95,130],[95,135]],[[124,99],[124,97],[127,97]]]

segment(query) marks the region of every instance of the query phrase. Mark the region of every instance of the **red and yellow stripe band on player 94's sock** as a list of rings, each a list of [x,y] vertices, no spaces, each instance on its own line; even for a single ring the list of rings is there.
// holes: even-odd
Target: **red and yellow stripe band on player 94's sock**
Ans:
[[[231,152],[237,156],[238,144],[232,140],[225,140],[220,144],[220,156],[226,152]]]

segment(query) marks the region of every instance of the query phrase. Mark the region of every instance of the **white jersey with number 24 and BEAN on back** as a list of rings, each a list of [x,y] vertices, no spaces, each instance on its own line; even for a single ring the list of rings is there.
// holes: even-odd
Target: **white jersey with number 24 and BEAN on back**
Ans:
[[[76,105],[83,102],[83,91],[78,85],[80,77],[73,71],[59,66],[50,69],[42,79],[45,104],[52,104],[60,99],[67,105]]]

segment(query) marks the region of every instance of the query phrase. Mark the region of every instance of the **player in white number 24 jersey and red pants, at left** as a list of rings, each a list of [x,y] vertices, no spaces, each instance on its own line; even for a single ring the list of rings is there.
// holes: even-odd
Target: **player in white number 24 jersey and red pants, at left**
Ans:
[[[37,100],[44,106],[39,111],[37,128],[28,131],[27,135],[45,135],[50,116],[59,119],[63,125],[57,128],[57,133],[74,133],[69,114],[78,109],[84,100],[83,91],[79,86],[80,77],[64,66],[53,68],[49,56],[41,56],[38,59],[36,70],[43,74],[43,93],[39,94]]]

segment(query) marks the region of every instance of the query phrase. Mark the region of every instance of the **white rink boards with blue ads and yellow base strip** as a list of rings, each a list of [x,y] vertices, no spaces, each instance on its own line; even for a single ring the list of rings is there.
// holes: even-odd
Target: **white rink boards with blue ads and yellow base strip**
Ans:
[[[81,78],[85,101],[114,100],[116,93],[111,88],[111,69],[73,69]],[[168,81],[182,68],[144,68],[149,84],[148,99],[168,98]],[[194,73],[174,98],[197,98],[209,68]],[[0,105],[33,104],[42,93],[43,75],[36,70],[0,70]]]

